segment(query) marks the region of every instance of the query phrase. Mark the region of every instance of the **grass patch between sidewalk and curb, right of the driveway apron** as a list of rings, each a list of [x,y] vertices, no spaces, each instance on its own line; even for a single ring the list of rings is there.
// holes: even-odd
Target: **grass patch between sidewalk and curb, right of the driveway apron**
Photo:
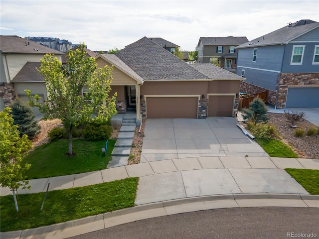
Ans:
[[[319,195],[319,170],[298,168],[286,168],[285,170],[310,194]]]

